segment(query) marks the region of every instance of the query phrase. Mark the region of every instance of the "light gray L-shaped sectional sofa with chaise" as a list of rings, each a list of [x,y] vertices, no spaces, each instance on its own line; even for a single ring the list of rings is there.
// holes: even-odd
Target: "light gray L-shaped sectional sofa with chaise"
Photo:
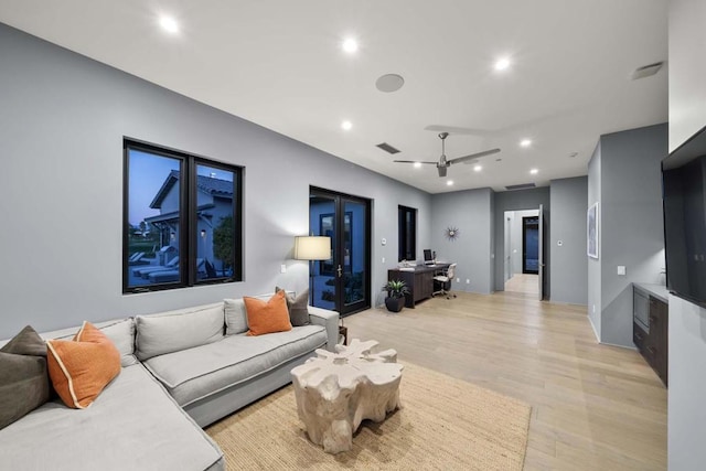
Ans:
[[[97,323],[120,352],[120,374],[87,409],[56,398],[1,429],[0,468],[224,469],[202,427],[290,383],[317,349],[334,350],[339,314],[308,309],[310,324],[258,336],[245,334],[239,299]]]

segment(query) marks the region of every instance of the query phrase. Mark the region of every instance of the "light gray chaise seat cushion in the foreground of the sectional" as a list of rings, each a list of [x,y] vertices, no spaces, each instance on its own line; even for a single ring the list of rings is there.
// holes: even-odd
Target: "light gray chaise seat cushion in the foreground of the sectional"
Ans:
[[[0,430],[0,457],[8,470],[223,468],[221,450],[140,364],[85,410],[49,402]]]

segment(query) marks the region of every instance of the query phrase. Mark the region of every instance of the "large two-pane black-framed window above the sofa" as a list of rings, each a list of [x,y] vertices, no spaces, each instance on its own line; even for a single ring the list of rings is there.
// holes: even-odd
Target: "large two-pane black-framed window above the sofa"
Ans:
[[[122,292],[242,280],[242,169],[125,140]]]

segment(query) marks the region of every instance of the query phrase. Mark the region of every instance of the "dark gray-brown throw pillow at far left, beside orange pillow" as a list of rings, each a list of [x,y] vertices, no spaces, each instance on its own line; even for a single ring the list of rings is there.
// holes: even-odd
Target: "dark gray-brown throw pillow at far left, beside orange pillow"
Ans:
[[[0,349],[0,429],[49,400],[46,344],[25,327]]]

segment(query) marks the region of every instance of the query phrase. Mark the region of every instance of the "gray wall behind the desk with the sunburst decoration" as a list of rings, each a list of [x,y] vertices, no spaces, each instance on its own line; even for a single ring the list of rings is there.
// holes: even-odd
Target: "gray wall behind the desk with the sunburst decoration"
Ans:
[[[453,281],[453,290],[492,291],[491,201],[490,189],[435,194],[431,199],[431,249],[437,258],[458,264],[456,277],[461,281]],[[448,226],[459,228],[458,239],[445,236]]]

